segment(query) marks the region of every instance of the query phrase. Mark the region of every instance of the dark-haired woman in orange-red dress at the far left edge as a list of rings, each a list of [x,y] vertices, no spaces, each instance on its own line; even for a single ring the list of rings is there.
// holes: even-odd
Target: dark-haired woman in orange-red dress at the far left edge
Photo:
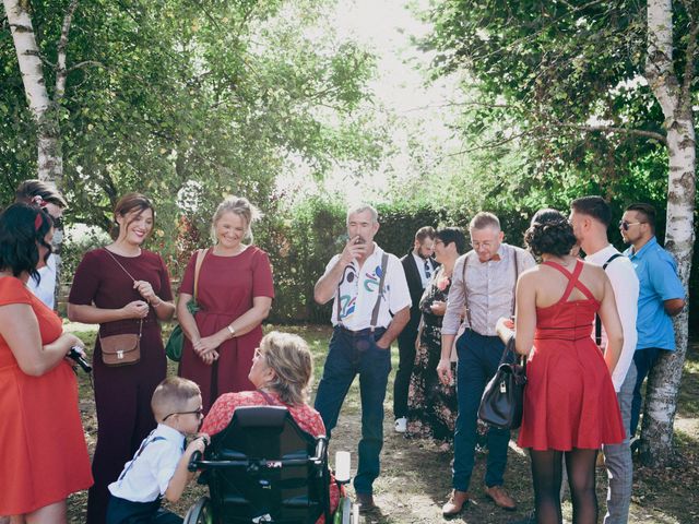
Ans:
[[[68,495],[92,485],[66,354],[82,342],[26,287],[51,253],[51,218],[14,204],[0,215],[0,515],[66,522]]]

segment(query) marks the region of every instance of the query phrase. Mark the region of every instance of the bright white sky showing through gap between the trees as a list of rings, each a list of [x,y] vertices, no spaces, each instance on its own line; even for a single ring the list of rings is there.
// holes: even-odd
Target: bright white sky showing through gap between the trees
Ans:
[[[405,124],[395,127],[391,145],[396,152],[376,172],[363,174],[359,178],[354,166],[336,166],[324,180],[324,188],[344,193],[351,202],[382,200],[390,178],[415,176],[408,145],[411,129],[419,129],[420,140],[427,144],[448,141],[446,123],[450,115],[447,114],[453,117],[453,111],[440,106],[454,99],[458,90],[453,79],[426,85],[424,71],[431,56],[414,48],[411,37],[422,37],[430,27],[417,20],[407,1],[339,0],[337,3],[330,24],[334,25],[339,40],[358,41],[377,56],[377,78],[370,83],[375,105],[384,106]],[[426,1],[413,3],[426,4]],[[307,193],[312,183],[303,180],[309,177],[308,168],[298,164],[281,183]]]

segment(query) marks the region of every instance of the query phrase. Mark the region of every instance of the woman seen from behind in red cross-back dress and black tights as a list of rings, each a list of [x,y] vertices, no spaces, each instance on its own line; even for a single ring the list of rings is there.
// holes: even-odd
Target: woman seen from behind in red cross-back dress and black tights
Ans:
[[[597,522],[595,461],[602,444],[624,440],[612,371],[624,335],[604,270],[571,257],[572,227],[555,210],[532,218],[524,241],[543,263],[517,286],[517,352],[529,355],[519,445],[530,449],[537,523],[559,523],[564,458],[573,521]],[[609,336],[592,340],[599,314]],[[532,347],[533,346],[533,347]]]

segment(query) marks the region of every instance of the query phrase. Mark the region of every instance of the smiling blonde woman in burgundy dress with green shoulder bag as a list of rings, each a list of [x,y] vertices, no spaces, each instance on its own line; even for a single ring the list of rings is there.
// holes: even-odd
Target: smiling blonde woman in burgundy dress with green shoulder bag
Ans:
[[[192,315],[197,253],[179,289],[177,318],[185,332],[179,376],[201,388],[204,412],[223,393],[252,390],[250,360],[262,338],[261,322],[274,298],[272,269],[264,251],[244,245],[259,211],[247,199],[229,196],[214,213],[214,247],[205,251],[197,284],[200,310]]]

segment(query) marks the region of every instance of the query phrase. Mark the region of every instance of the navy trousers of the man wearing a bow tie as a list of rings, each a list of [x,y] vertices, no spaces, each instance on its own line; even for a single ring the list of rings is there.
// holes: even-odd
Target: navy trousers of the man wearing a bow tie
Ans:
[[[498,369],[505,344],[498,336],[484,336],[466,330],[457,343],[457,400],[459,416],[454,432],[453,488],[467,491],[475,463],[476,428],[481,397],[488,381]],[[511,356],[509,358],[511,360]],[[488,429],[488,462],[485,474],[487,487],[501,486],[507,466],[510,431]]]

